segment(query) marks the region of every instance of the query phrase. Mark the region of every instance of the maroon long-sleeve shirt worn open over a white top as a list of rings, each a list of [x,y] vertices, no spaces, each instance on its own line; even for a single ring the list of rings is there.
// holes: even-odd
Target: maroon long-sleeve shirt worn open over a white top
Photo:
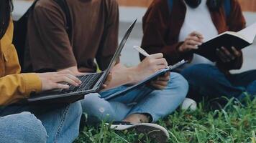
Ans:
[[[225,15],[224,6],[217,11],[210,10],[210,14],[219,34],[224,31],[239,31],[245,27],[245,19],[237,0],[231,0],[229,16]],[[175,64],[181,59],[191,60],[193,53],[178,51],[178,47],[183,44],[183,41],[178,42],[178,37],[185,16],[186,4],[183,1],[173,0],[172,11],[169,11],[168,0],[153,1],[143,17],[142,48],[149,54],[163,53],[169,64]],[[241,56],[227,64],[217,61],[217,66],[227,72],[230,69],[240,69],[242,62]]]

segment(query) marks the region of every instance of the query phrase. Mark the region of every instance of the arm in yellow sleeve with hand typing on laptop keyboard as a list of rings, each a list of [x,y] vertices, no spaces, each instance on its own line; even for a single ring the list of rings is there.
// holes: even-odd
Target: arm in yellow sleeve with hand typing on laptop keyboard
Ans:
[[[81,81],[69,70],[42,74],[11,74],[0,78],[0,106],[12,104],[29,97],[32,92],[68,89],[68,83],[79,86]]]

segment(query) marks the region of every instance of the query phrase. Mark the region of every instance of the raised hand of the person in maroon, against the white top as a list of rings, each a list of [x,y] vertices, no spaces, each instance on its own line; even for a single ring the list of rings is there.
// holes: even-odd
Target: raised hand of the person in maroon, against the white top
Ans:
[[[203,44],[204,36],[197,31],[193,31],[188,37],[185,39],[182,45],[178,48],[178,51],[191,51],[192,49],[198,49],[198,46]]]

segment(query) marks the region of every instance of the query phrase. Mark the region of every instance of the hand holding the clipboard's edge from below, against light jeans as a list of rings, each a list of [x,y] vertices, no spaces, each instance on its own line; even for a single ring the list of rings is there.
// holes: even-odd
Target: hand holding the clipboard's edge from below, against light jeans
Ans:
[[[165,87],[167,87],[169,80],[170,80],[170,71],[158,77],[156,80],[150,82],[150,86],[158,90],[163,90],[165,89]]]

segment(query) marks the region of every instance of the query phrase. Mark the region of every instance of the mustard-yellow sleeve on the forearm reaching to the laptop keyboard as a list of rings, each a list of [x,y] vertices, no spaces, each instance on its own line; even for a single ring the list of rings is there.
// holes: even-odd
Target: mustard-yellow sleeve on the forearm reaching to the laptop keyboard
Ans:
[[[0,106],[12,104],[29,97],[31,92],[41,92],[42,83],[37,74],[12,74],[0,78]]]

